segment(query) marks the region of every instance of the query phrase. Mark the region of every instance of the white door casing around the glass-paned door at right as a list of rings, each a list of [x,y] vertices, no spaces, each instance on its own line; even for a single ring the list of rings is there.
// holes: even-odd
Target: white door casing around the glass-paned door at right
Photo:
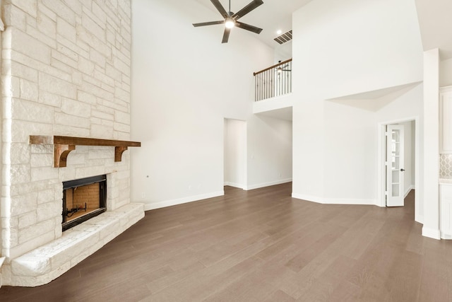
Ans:
[[[405,117],[398,120],[390,120],[378,123],[378,160],[377,160],[377,203],[379,207],[386,207],[385,184],[386,184],[386,126],[388,124],[399,124],[402,122],[415,122],[415,221],[423,223],[420,215],[420,198],[422,188],[420,186],[420,117]],[[405,146],[406,148],[407,146]],[[410,146],[411,148],[411,146]]]

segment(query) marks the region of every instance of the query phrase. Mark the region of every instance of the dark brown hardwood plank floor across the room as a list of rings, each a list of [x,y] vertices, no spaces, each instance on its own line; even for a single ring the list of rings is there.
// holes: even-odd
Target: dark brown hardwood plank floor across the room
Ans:
[[[405,207],[324,205],[291,184],[147,211],[51,283],[0,301],[452,301],[452,242]]]

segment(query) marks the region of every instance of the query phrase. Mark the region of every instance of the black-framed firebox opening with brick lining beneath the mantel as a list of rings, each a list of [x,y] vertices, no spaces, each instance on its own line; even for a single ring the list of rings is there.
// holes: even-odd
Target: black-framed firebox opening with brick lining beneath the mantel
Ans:
[[[63,231],[107,210],[107,175],[63,182]]]

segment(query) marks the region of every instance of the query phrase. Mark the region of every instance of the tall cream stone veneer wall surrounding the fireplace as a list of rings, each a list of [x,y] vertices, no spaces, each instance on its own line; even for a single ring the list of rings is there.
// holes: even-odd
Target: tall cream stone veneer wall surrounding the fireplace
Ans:
[[[62,184],[107,174],[107,209],[130,202],[129,152],[76,146],[53,168],[29,136],[130,137],[130,0],[3,0],[1,267],[61,237]]]

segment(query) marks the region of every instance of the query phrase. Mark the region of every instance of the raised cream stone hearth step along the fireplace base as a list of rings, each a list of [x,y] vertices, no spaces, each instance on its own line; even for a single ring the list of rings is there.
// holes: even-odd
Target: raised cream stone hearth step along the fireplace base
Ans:
[[[40,286],[67,272],[144,217],[143,204],[126,204],[65,231],[11,261],[13,286]]]

